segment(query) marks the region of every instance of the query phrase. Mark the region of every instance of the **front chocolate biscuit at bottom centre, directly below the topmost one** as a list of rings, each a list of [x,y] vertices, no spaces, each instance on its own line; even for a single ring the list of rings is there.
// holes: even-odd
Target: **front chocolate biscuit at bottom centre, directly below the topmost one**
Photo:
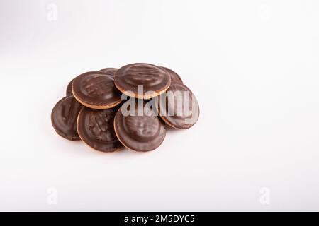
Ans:
[[[135,105],[135,114],[126,114],[126,103],[118,110],[114,119],[114,129],[118,140],[126,148],[140,152],[159,147],[166,135],[164,123],[147,105],[144,105],[145,113],[141,116],[137,113],[138,105]]]

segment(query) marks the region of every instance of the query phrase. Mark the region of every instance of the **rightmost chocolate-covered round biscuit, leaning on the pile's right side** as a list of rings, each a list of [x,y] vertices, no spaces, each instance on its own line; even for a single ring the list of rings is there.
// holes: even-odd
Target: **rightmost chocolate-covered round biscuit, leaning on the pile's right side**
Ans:
[[[159,116],[175,129],[188,129],[198,120],[196,97],[183,83],[172,81],[169,89],[154,101]]]

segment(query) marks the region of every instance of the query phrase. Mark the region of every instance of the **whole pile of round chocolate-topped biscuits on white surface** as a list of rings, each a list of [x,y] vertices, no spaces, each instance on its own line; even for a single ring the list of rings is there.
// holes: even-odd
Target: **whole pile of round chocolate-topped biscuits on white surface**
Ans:
[[[184,96],[167,97],[167,93],[183,92],[189,94],[190,105],[181,102]],[[196,97],[177,73],[152,64],[128,64],[74,78],[66,97],[53,107],[51,121],[63,138],[82,140],[95,150],[126,147],[145,152],[161,145],[166,126],[188,129],[198,116]]]

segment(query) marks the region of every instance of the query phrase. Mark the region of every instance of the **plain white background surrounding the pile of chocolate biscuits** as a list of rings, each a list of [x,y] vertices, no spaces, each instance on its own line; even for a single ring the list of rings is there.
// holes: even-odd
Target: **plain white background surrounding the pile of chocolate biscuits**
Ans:
[[[315,0],[1,0],[0,210],[319,210],[318,22]],[[57,136],[74,76],[133,62],[177,71],[198,123],[150,153]]]

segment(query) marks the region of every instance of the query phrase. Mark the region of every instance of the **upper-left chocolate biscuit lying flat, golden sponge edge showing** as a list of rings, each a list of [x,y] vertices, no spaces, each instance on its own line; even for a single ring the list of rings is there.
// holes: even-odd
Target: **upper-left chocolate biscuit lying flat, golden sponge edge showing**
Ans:
[[[108,109],[121,102],[122,93],[115,87],[113,76],[101,71],[82,73],[72,83],[74,97],[86,107]]]

